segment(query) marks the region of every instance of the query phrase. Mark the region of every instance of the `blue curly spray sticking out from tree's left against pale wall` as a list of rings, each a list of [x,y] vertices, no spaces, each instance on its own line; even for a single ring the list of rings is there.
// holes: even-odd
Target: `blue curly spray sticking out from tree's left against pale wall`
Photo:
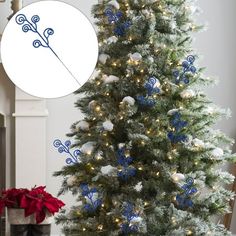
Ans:
[[[56,139],[53,142],[53,146],[58,149],[59,153],[67,153],[70,157],[66,159],[66,164],[76,164],[78,163],[78,157],[81,155],[81,151],[76,149],[73,153],[70,150],[71,141],[67,140],[64,144],[61,142],[61,140]]]

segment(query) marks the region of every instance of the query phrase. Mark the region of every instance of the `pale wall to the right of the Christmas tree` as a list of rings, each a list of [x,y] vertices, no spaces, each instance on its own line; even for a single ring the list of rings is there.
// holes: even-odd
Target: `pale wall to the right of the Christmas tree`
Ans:
[[[207,22],[209,27],[207,31],[196,35],[194,45],[202,55],[200,65],[207,67],[206,74],[219,78],[218,86],[207,89],[207,92],[216,104],[232,111],[232,118],[222,120],[216,127],[236,138],[236,1],[199,0],[198,5],[203,10],[199,22]],[[231,230],[234,234],[235,222],[236,204],[231,221]]]

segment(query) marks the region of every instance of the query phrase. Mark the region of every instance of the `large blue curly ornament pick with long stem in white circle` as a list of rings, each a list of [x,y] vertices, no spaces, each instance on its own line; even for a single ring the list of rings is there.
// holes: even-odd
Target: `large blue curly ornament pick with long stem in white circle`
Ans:
[[[18,14],[15,17],[15,21],[18,25],[22,26],[22,31],[24,33],[27,33],[29,31],[35,33],[38,37],[38,39],[35,39],[33,41],[33,47],[34,48],[48,48],[51,50],[51,52],[56,56],[56,58],[62,63],[62,65],[65,67],[65,69],[69,72],[69,74],[73,77],[73,79],[79,84],[79,81],[76,79],[76,77],[73,75],[73,73],[69,70],[69,68],[65,65],[65,63],[61,60],[61,58],[57,55],[57,53],[53,50],[53,48],[50,46],[49,38],[54,34],[54,30],[52,28],[46,28],[43,33],[41,34],[38,31],[38,25],[37,23],[40,21],[40,17],[38,15],[34,15],[31,17],[31,21],[27,19],[27,17],[24,14]]]

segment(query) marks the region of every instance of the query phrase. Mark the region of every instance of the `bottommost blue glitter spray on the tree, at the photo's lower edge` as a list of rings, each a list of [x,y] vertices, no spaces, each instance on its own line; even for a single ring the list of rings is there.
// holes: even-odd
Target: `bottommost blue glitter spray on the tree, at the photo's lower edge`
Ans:
[[[134,218],[139,217],[138,214],[134,212],[134,206],[131,203],[126,203],[122,216],[125,218],[126,223],[121,224],[121,231],[125,235],[138,232],[138,226],[132,225],[131,222]]]

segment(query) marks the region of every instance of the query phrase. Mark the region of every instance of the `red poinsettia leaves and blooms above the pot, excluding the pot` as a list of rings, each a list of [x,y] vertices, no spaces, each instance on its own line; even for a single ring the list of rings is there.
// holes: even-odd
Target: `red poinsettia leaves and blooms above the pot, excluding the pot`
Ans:
[[[35,214],[37,224],[41,223],[47,213],[54,215],[65,204],[45,191],[45,186],[28,189],[9,189],[0,197],[0,214],[4,207],[23,208],[25,216]]]

